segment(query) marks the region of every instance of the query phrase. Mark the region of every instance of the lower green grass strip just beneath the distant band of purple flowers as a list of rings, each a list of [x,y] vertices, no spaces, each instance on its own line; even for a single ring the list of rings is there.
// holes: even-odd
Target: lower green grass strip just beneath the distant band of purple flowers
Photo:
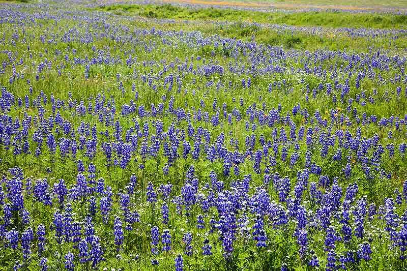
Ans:
[[[355,52],[368,52],[371,48],[380,48],[389,53],[405,54],[407,47],[407,37],[399,37],[389,43],[386,37],[364,38],[350,37],[346,35],[334,35],[327,32],[324,35],[290,31],[278,31],[272,27],[261,27],[243,22],[233,22],[228,24],[208,23],[206,21],[194,21],[187,23],[184,21],[160,22],[155,19],[131,20],[124,22],[130,27],[155,27],[163,31],[199,31],[204,36],[210,37],[217,34],[221,37],[240,39],[242,41],[256,41],[265,45],[282,46],[284,48],[307,49],[314,51],[317,49],[329,50],[352,50]]]

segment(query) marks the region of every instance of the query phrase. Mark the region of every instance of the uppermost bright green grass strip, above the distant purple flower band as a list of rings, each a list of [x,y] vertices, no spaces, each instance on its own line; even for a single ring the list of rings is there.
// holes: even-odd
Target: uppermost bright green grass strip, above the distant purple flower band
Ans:
[[[156,19],[254,21],[257,23],[298,26],[405,28],[407,15],[347,12],[259,12],[250,10],[203,8],[191,9],[165,5],[109,5],[97,10],[115,14],[138,15]]]

